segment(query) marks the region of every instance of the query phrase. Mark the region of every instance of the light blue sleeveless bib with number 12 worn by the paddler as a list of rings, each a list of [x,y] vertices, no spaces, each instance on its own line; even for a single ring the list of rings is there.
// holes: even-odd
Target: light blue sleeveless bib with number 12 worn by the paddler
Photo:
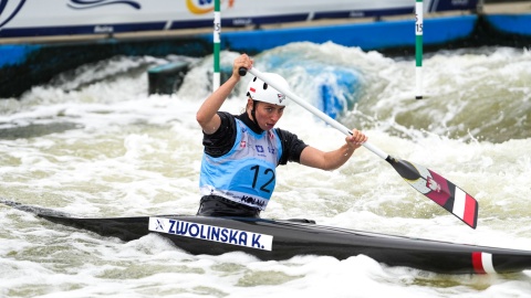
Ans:
[[[199,188],[201,195],[266,210],[277,182],[275,168],[282,156],[275,129],[260,135],[236,119],[236,141],[230,151],[214,158],[204,153]]]

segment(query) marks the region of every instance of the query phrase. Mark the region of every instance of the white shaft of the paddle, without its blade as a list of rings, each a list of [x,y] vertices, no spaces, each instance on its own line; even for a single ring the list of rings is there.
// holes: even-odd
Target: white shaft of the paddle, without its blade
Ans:
[[[279,86],[277,84],[272,84],[271,81],[269,81],[263,74],[262,72],[260,72],[259,70],[257,68],[251,68],[251,70],[246,70],[246,68],[240,68],[239,73],[240,75],[244,75],[247,72],[253,74],[254,76],[257,76],[258,78],[262,79],[263,82],[268,83],[269,85],[273,86],[273,88],[275,88],[277,91],[281,92],[283,95],[285,95],[287,97],[289,97],[291,100],[295,102],[296,104],[299,104],[300,106],[302,106],[303,108],[305,108],[306,110],[309,110],[310,113],[312,113],[313,115],[317,116],[319,118],[321,118],[322,120],[324,120],[325,123],[327,123],[329,125],[333,126],[335,129],[340,130],[341,132],[345,134],[346,136],[352,136],[352,130],[346,128],[344,125],[337,123],[336,120],[334,120],[332,117],[330,117],[329,115],[324,114],[323,111],[321,111],[320,109],[315,108],[314,106],[310,105],[309,103],[306,103],[304,99],[302,99],[301,97],[296,96],[294,93],[292,93],[290,89],[287,89],[284,88],[283,86]],[[383,150],[381,150],[379,148],[377,148],[376,146],[369,143],[368,141],[364,142],[363,146],[365,148],[367,148],[368,150],[371,150],[372,152],[374,152],[375,155],[377,155],[378,157],[389,161],[388,159],[391,159],[389,155],[387,155],[386,152],[384,152]]]

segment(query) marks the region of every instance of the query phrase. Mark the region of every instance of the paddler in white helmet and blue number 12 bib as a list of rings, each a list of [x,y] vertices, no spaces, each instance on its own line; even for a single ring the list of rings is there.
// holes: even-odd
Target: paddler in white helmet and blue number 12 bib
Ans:
[[[247,87],[247,106],[241,115],[219,111],[240,82],[240,67],[251,68],[253,61],[242,54],[232,65],[232,75],[201,105],[196,118],[202,128],[205,146],[199,187],[198,215],[259,217],[266,210],[275,184],[275,168],[288,161],[322,170],[343,166],[367,140],[356,130],[339,149],[324,152],[308,146],[296,135],[274,128],[289,98],[260,78]],[[278,74],[264,74],[273,85],[289,88]],[[266,79],[266,81],[269,81]]]

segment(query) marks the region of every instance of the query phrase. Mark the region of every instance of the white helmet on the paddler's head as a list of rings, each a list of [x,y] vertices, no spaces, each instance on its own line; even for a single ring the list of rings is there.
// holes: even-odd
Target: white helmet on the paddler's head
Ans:
[[[273,73],[263,73],[268,81],[272,82],[274,85],[289,89],[290,86],[288,82],[280,75]],[[279,106],[285,106],[285,95],[269,86],[267,83],[261,81],[258,77],[254,77],[247,85],[247,96],[251,97],[253,100],[269,103]]]

